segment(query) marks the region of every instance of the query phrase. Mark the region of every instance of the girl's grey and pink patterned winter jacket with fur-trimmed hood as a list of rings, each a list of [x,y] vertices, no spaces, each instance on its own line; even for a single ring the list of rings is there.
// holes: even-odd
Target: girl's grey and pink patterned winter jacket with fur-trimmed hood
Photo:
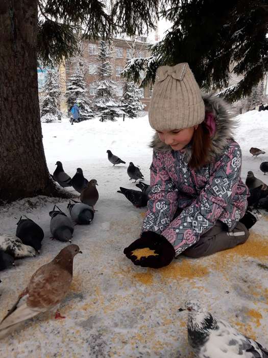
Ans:
[[[174,245],[176,256],[196,243],[216,220],[231,231],[247,209],[247,186],[241,181],[241,149],[232,139],[236,122],[228,105],[204,95],[206,113],[214,116],[211,162],[199,170],[188,166],[191,147],[174,151],[156,134],[152,147],[152,191],[142,231],[162,234]],[[183,209],[175,219],[178,208]]]

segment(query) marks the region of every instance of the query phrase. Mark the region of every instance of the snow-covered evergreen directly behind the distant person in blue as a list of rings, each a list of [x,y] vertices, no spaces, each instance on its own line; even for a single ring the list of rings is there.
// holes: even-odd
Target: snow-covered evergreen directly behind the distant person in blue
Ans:
[[[91,119],[93,111],[90,106],[90,101],[87,98],[87,84],[84,80],[84,74],[82,71],[83,63],[78,62],[77,68],[74,73],[69,77],[66,84],[67,109],[68,116],[71,116],[70,109],[75,103],[79,103],[80,108],[80,121]]]

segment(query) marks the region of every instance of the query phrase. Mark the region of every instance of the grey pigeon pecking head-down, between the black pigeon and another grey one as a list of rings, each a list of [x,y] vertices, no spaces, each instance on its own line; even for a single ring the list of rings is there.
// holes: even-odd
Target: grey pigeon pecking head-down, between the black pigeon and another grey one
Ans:
[[[56,208],[58,210],[56,210]],[[50,211],[50,217],[50,231],[52,238],[63,242],[71,242],[72,233],[75,230],[71,219],[56,205],[54,205],[53,210]]]

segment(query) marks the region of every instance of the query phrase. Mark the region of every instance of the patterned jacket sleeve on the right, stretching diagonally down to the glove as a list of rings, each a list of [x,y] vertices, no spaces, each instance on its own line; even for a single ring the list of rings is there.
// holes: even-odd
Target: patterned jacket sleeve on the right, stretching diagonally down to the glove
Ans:
[[[196,243],[201,235],[215,225],[226,208],[232,206],[240,171],[241,149],[238,144],[233,144],[215,162],[209,182],[198,197],[162,232],[174,245],[176,256]]]

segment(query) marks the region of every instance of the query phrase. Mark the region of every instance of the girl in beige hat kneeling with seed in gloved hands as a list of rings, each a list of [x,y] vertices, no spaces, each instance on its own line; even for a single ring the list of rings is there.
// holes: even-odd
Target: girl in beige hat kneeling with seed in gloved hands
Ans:
[[[244,243],[258,217],[247,210],[241,149],[228,105],[201,94],[187,63],[161,66],[149,110],[156,130],[148,211],[141,237],[124,253],[162,267],[183,253],[198,258]],[[133,251],[149,248],[138,259]],[[139,255],[138,255],[139,256]]]

